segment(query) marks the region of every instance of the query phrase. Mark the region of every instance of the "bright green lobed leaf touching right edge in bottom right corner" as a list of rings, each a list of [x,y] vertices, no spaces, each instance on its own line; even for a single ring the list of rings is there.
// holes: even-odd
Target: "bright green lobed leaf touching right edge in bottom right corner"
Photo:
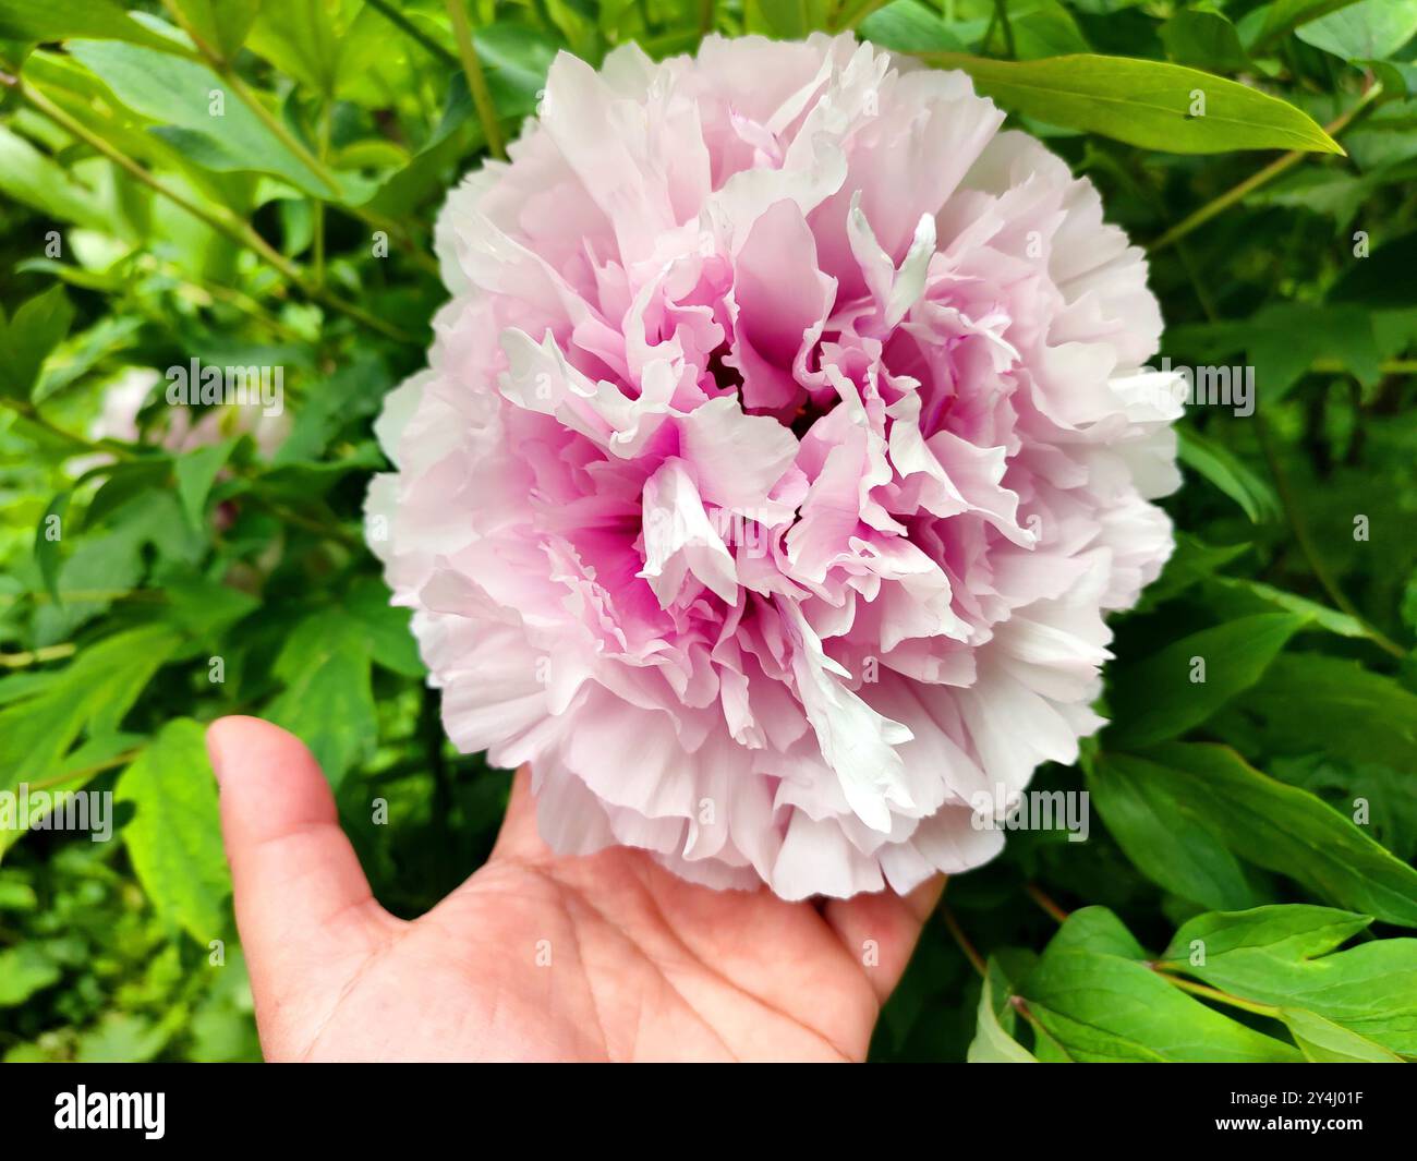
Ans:
[[[1366,914],[1302,904],[1210,913],[1182,926],[1162,963],[1243,999],[1302,1009],[1355,1038],[1413,1056],[1417,940],[1369,940],[1333,950],[1372,921]],[[1318,1025],[1305,1026],[1322,1032]]]

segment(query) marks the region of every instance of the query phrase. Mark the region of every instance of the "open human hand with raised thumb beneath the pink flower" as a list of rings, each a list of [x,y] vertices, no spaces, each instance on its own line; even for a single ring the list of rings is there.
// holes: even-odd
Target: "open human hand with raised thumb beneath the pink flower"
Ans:
[[[558,858],[521,770],[486,866],[407,921],[300,741],[227,717],[207,743],[269,1059],[859,1060],[939,896],[784,903],[640,851]]]

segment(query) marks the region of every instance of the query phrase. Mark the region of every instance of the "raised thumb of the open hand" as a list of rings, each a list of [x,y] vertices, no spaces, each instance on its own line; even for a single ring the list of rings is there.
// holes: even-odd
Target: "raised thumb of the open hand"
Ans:
[[[258,717],[222,717],[207,729],[207,753],[256,1015],[319,1009],[329,981],[401,924],[374,900],[299,739]]]

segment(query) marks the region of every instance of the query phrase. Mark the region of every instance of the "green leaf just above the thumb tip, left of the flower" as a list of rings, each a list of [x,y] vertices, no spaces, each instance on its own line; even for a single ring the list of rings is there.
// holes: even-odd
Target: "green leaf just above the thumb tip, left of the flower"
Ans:
[[[334,788],[378,739],[366,634],[340,610],[317,612],[296,625],[275,662],[286,688],[268,716],[310,747]]]

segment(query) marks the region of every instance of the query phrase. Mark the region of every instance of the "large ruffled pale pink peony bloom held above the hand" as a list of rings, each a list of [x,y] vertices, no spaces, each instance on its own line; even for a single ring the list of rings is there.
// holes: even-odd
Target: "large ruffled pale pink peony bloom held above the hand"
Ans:
[[[370,539],[557,851],[905,892],[1101,724],[1179,404],[1141,252],[1002,120],[850,35],[561,55],[448,198]]]

